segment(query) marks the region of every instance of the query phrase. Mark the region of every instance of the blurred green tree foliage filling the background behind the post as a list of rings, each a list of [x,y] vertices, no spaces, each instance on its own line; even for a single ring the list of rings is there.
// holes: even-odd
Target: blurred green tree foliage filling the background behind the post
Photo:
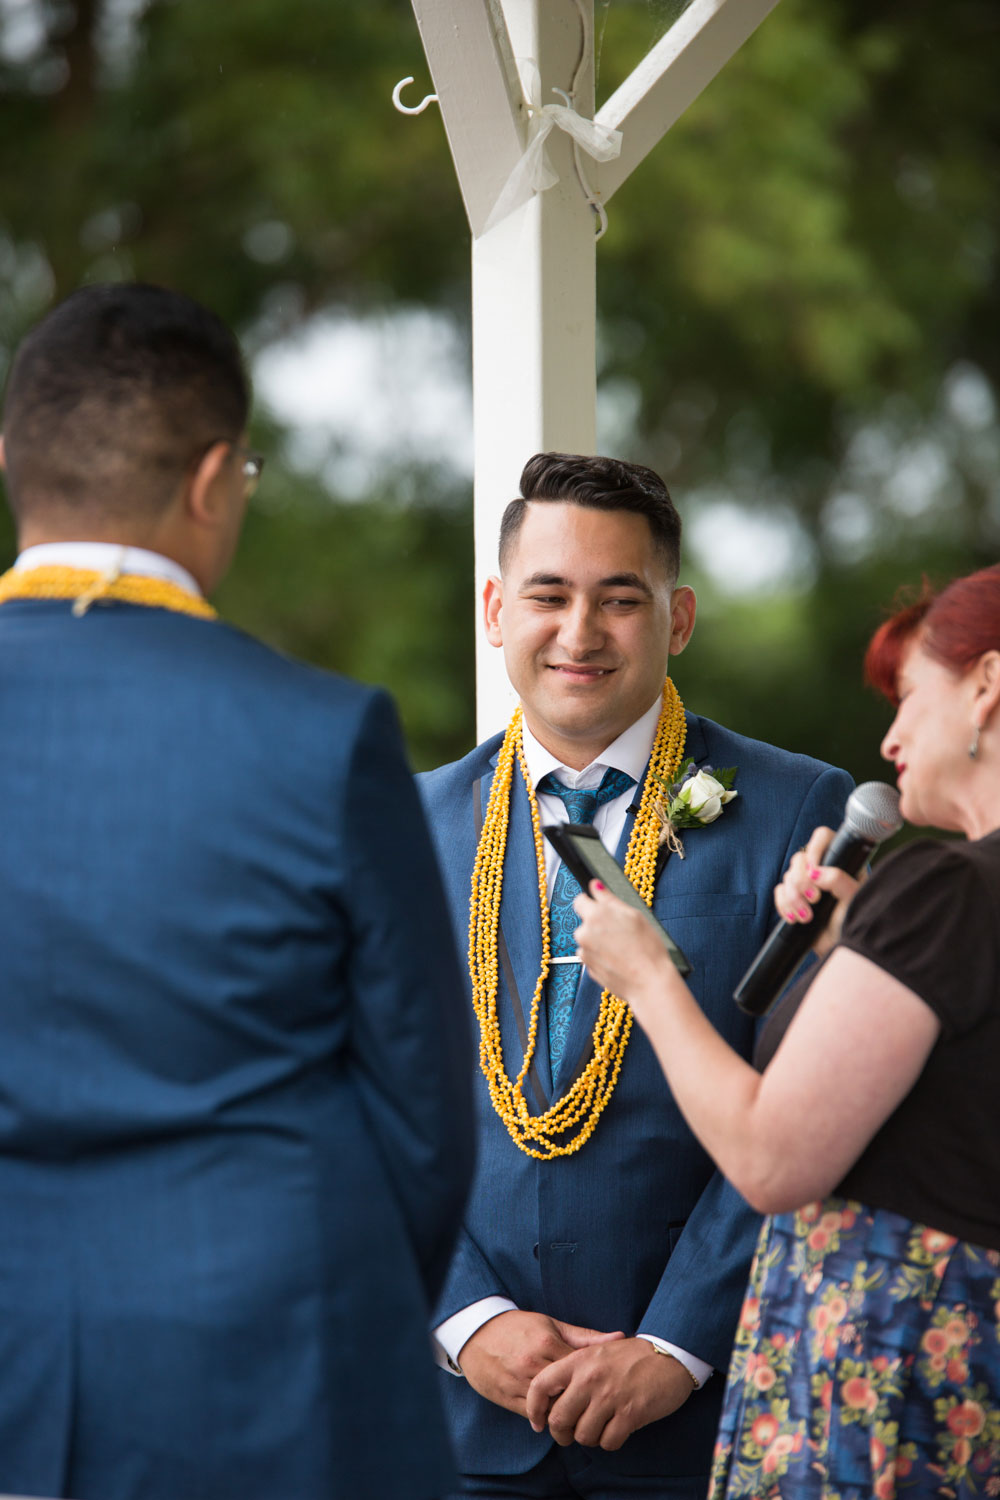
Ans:
[[[595,9],[606,98],[682,0]],[[999,40],[991,0],[781,0],[600,246],[603,386],[702,536],[681,688],[858,776],[886,717],[859,681],[882,606],[997,556]],[[423,88],[406,0],[0,0],[0,363],[114,276],[204,298],[250,348],[327,308],[465,318],[459,192],[436,111],[390,105],[405,74]],[[223,609],[388,682],[418,764],[460,753],[468,494],[442,464],[348,502],[265,420]],[[697,525],[720,496],[792,518],[798,574],[730,597]]]

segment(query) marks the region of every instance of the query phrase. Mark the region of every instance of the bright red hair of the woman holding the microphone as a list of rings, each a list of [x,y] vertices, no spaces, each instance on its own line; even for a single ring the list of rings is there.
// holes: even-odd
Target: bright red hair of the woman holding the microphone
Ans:
[[[900,702],[900,666],[918,639],[954,672],[966,672],[984,651],[1000,651],[1000,564],[957,578],[940,592],[925,578],[918,597],[879,626],[865,652],[865,676],[891,704]]]

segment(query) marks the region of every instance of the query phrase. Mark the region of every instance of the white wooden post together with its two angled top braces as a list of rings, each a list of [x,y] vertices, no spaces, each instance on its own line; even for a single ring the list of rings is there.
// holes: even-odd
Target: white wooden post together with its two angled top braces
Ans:
[[[777,0],[691,0],[667,34],[597,116],[621,129],[618,160],[583,158],[607,201]],[[493,228],[486,224],[526,140],[516,58],[534,58],[541,102],[576,93],[594,117],[594,50],[580,66],[582,14],[594,0],[412,0],[472,228],[472,394],[475,411],[475,590],[478,736],[510,717],[502,658],[483,638],[480,598],[496,572],[504,506],[526,459],[541,450],[592,453],[597,442],[595,218],[573,146],[553,130],[559,182]]]

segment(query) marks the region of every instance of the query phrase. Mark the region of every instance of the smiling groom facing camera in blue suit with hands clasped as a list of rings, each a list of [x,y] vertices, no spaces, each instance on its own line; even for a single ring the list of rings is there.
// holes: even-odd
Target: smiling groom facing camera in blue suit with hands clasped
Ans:
[[[696,609],[679,543],[651,470],[535,456],[486,588],[520,711],[420,778],[481,1032],[478,1173],[435,1324],[462,1496],[700,1500],[708,1480],[757,1221],[574,964],[576,888],[538,825],[592,822],[622,861],[633,848],[696,996],[748,1054],[733,988],[789,856],[840,822],[852,783],[684,712],[667,678]],[[738,795],[655,856],[649,768],[673,782],[687,760],[736,766]],[[561,1396],[532,1428],[528,1389],[556,1360]]]

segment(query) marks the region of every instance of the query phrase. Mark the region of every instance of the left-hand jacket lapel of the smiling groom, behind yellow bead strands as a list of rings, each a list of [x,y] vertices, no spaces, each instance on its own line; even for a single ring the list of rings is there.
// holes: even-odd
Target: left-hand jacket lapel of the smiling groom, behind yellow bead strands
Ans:
[[[477,786],[481,808],[486,810],[493,771]],[[499,1005],[501,1036],[507,1076],[517,1077],[528,1046],[531,1002],[541,970],[541,916],[538,908],[538,864],[531,826],[531,806],[519,766],[510,800],[507,855],[504,860],[504,892],[498,933],[499,993],[510,1004]],[[477,838],[481,813],[477,816]],[[538,1014],[538,1034],[532,1065],[525,1082],[525,1096],[532,1113],[543,1113],[552,1102],[549,1071],[549,1034],[544,1010]]]

